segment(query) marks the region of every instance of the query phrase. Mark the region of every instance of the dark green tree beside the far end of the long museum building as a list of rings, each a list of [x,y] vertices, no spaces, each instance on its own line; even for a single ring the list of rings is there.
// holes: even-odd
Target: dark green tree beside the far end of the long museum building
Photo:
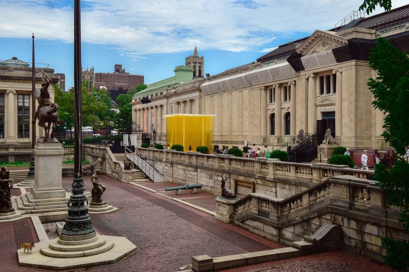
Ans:
[[[132,96],[146,89],[145,84],[139,84],[134,89],[129,90],[125,94],[120,94],[117,97],[118,112],[113,117],[113,126],[116,130],[131,133],[131,123],[132,123]],[[141,125],[141,124],[139,124]]]

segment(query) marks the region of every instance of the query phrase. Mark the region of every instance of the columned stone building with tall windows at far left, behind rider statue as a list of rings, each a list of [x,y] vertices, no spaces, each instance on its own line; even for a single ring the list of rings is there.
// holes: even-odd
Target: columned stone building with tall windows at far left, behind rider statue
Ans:
[[[16,57],[0,62],[0,160],[29,161],[32,130],[32,67]],[[54,84],[58,78],[54,69],[36,68],[36,89],[41,88],[41,71],[52,79],[48,88],[54,101]],[[38,102],[36,101],[35,107]],[[36,125],[36,137],[43,128]]]

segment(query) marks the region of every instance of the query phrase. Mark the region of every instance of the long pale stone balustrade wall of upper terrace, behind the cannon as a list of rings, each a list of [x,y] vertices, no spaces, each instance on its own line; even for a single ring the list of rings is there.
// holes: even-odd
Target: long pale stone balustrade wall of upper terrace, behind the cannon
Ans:
[[[181,184],[201,183],[204,189],[215,194],[220,190],[220,178],[217,176],[222,174],[232,174],[232,180],[226,187],[237,189],[239,196],[257,192],[281,198],[332,177],[349,175],[366,179],[368,174],[373,174],[373,171],[353,169],[347,165],[300,164],[278,159],[248,159],[152,148],[139,148],[139,154],[168,180]],[[237,180],[254,183],[255,189],[246,190]]]

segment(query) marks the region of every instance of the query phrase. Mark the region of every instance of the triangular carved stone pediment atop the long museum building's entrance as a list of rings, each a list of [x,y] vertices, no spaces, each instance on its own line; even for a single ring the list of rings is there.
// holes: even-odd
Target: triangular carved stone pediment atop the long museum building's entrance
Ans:
[[[296,52],[306,56],[347,44],[348,39],[336,35],[335,32],[316,30],[307,40],[305,40],[305,42],[297,47]]]

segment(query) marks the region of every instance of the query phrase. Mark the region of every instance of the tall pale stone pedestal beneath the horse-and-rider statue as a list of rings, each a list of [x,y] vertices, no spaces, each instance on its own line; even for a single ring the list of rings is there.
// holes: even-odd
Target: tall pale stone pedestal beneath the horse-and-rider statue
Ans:
[[[31,186],[35,199],[65,197],[61,185],[63,155],[60,143],[36,143],[34,185]]]

